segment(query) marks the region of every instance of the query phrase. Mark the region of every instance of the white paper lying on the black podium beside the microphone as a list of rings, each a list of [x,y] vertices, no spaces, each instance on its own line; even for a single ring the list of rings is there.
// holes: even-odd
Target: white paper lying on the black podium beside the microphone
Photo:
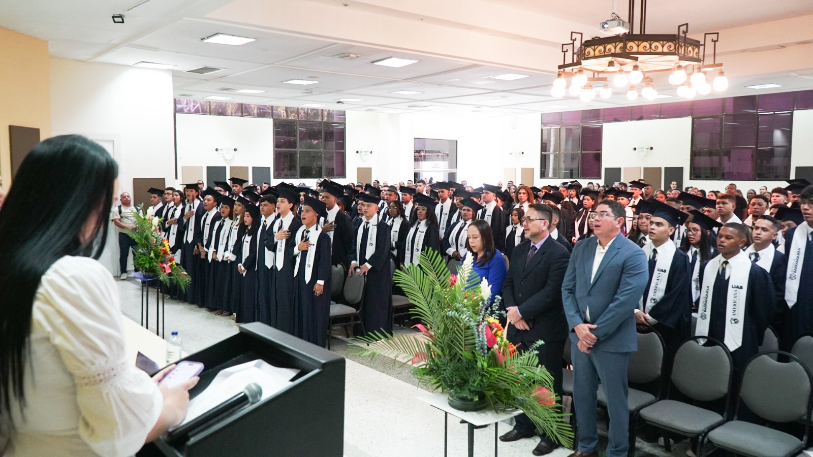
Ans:
[[[252,382],[263,389],[264,400],[290,385],[298,372],[296,368],[279,368],[260,359],[225,368],[215,376],[206,390],[189,402],[189,411],[181,424],[240,394]]]

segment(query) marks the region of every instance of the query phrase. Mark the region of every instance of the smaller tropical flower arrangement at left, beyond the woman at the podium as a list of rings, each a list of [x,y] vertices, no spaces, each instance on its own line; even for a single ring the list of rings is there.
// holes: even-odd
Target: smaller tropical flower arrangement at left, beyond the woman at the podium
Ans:
[[[169,242],[163,239],[159,224],[161,219],[141,214],[141,206],[133,212],[136,228],[128,231],[135,240],[133,265],[137,271],[155,276],[164,285],[178,285],[182,291],[189,286],[189,273],[185,272],[172,255]]]

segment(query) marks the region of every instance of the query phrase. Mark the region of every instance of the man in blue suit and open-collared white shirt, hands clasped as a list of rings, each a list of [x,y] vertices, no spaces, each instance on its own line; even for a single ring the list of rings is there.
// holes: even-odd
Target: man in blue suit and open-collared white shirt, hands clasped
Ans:
[[[571,330],[573,403],[579,441],[571,457],[598,457],[596,390],[610,416],[607,457],[628,450],[627,366],[638,349],[635,310],[649,277],[644,251],[621,234],[624,207],[604,200],[596,208],[595,237],[576,243],[562,289]]]

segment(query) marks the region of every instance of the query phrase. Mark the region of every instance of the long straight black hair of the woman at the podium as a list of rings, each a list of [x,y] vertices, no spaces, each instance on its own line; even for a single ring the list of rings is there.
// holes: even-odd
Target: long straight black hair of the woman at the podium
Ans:
[[[0,211],[0,413],[11,410],[11,398],[24,405],[41,277],[63,256],[102,255],[118,174],[107,150],[79,135],[42,141],[20,164]]]

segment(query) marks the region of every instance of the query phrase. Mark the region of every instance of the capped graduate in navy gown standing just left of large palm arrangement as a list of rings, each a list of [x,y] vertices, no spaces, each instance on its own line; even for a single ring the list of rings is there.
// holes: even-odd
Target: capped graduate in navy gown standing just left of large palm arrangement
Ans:
[[[361,318],[367,334],[393,332],[393,271],[389,268],[389,226],[379,224],[379,198],[359,194],[361,224],[350,251],[348,276],[367,276]],[[366,335],[360,335],[366,336]]]

